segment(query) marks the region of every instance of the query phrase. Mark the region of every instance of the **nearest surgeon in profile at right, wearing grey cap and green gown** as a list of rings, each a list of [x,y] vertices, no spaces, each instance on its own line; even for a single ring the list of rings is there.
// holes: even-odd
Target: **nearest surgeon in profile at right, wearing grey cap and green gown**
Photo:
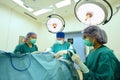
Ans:
[[[83,30],[83,39],[86,46],[93,47],[90,50],[85,65],[89,69],[83,73],[83,80],[120,80],[117,72],[118,59],[113,51],[104,44],[107,43],[107,35],[97,26],[89,26]],[[72,60],[81,67],[82,61],[76,54]]]

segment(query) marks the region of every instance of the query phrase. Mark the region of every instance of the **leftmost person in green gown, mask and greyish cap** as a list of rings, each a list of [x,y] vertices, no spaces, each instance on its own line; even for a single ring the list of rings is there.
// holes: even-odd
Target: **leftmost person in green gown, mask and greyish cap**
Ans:
[[[14,53],[24,54],[38,51],[38,47],[35,45],[37,35],[34,32],[29,32],[26,35],[24,43],[18,44],[14,50]]]

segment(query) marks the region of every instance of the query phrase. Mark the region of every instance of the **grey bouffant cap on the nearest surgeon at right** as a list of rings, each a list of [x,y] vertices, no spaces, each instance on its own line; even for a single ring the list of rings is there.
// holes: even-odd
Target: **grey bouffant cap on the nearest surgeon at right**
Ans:
[[[106,32],[97,26],[89,26],[82,31],[83,35],[94,37],[99,43],[107,43]]]

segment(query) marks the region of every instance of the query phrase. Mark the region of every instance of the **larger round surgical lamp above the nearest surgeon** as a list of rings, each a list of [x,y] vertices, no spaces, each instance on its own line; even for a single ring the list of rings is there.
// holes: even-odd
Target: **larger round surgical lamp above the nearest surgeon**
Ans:
[[[109,20],[107,20],[108,11],[106,7],[97,1],[79,1],[74,8],[75,16],[80,22],[87,25],[106,24],[112,18],[113,10],[111,5],[106,0],[103,1],[111,10],[111,16]]]

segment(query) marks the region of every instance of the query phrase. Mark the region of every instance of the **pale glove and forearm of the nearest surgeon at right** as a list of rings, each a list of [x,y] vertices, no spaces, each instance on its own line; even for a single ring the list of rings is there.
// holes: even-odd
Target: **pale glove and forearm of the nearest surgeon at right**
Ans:
[[[87,68],[87,66],[80,60],[79,55],[73,54],[72,60],[80,67],[83,73],[89,72],[89,69]]]

